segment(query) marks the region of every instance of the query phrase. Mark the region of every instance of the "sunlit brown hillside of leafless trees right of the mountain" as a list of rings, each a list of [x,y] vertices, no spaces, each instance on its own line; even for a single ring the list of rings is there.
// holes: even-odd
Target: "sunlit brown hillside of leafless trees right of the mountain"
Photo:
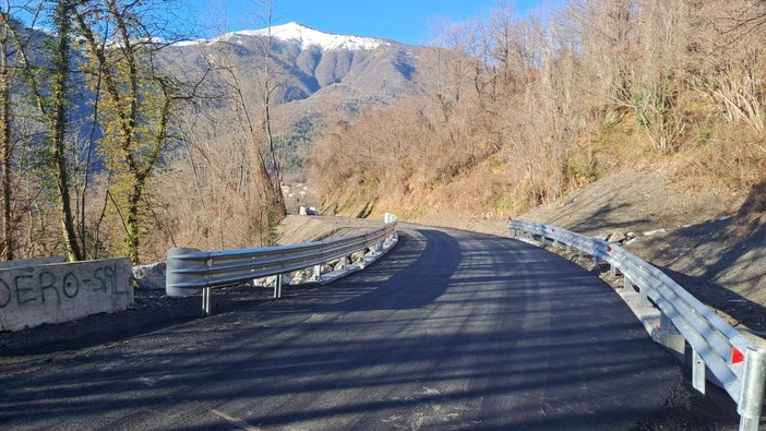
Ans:
[[[420,94],[338,121],[309,159],[323,207],[515,215],[625,169],[689,191],[766,180],[766,2],[512,2],[438,28]],[[443,217],[442,217],[443,218]]]

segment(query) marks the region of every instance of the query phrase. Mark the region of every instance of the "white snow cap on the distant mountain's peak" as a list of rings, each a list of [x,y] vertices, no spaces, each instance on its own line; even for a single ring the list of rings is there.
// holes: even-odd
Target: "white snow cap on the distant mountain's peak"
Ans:
[[[268,31],[270,28],[242,31],[232,33],[232,35],[268,36]],[[318,46],[323,51],[331,51],[334,49],[375,49],[381,45],[387,44],[382,39],[373,37],[331,35],[309,28],[299,23],[272,26],[271,34],[272,37],[276,39],[300,44],[301,49],[307,49],[310,46]]]

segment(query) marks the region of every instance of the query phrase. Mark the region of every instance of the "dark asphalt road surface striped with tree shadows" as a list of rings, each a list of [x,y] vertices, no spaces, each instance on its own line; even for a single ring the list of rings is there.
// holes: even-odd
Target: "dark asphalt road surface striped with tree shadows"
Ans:
[[[650,429],[683,373],[579,266],[405,225],[331,285],[0,373],[0,429]]]

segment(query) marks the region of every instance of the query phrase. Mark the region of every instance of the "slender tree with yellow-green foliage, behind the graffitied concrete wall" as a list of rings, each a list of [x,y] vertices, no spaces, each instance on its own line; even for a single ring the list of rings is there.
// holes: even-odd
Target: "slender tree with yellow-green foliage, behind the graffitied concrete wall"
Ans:
[[[80,3],[71,11],[91,60],[91,76],[97,86],[103,82],[100,152],[119,181],[111,194],[124,196],[125,249],[134,263],[140,261],[144,194],[168,146],[170,116],[179,97],[175,81],[153,62],[161,45],[151,33],[156,23],[143,21],[151,7],[105,0]]]

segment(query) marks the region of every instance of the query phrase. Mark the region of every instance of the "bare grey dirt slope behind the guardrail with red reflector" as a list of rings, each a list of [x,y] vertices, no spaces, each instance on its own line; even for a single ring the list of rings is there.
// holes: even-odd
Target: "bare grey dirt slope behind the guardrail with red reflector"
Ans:
[[[633,232],[631,252],[732,325],[766,335],[766,183],[684,193],[661,172],[623,172],[519,218],[591,236]]]

